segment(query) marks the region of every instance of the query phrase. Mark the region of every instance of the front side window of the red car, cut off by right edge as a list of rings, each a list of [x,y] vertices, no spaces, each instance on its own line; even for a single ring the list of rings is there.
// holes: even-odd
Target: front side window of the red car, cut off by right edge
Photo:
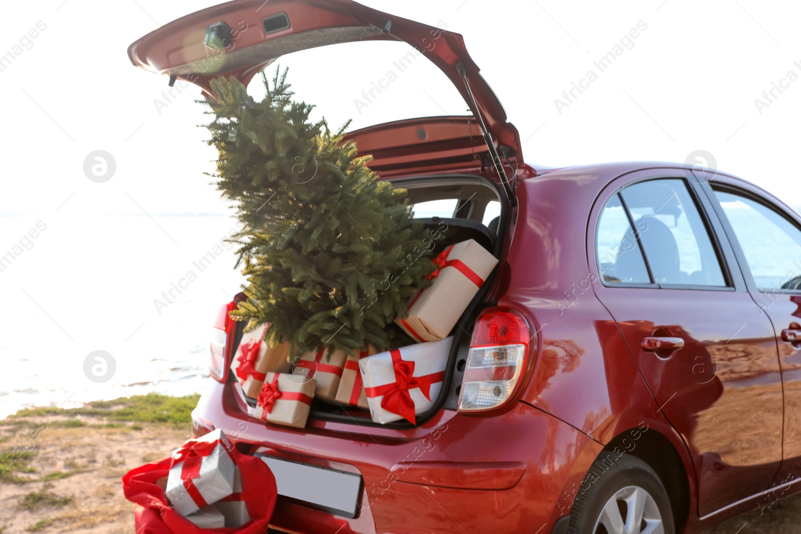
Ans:
[[[746,196],[714,191],[763,291],[801,290],[801,231],[779,212]]]

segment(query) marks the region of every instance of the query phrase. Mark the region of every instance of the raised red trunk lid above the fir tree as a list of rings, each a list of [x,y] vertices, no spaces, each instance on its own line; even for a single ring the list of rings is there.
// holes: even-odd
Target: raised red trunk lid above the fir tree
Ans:
[[[406,42],[429,58],[457,88],[474,117],[483,119],[493,138],[493,152],[497,149],[506,159],[523,161],[520,135],[481,78],[461,34],[352,0],[234,0],[161,26],[133,42],[128,56],[135,66],[169,76],[171,83],[187,80],[209,94],[212,78],[234,76],[247,85],[284,54],[370,40]],[[461,120],[455,125],[461,127]],[[464,130],[465,139],[472,140],[472,127]]]

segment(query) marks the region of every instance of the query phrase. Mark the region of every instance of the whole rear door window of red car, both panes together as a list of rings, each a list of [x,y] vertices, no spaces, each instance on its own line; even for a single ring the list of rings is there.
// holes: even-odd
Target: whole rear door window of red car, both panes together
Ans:
[[[727,285],[706,225],[681,179],[638,182],[614,195],[598,221],[596,243],[605,283]],[[633,253],[621,253],[626,249]]]

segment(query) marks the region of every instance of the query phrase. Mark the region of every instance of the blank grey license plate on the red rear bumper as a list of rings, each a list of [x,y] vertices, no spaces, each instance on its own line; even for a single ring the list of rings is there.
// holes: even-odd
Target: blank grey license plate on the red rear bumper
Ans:
[[[281,500],[342,517],[356,517],[361,498],[361,476],[335,469],[320,468],[259,456],[276,477]]]

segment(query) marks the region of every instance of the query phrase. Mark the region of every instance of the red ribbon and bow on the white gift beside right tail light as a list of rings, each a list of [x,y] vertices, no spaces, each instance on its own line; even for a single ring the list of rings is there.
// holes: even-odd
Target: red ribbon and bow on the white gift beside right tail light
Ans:
[[[414,376],[414,362],[400,359],[400,351],[391,351],[392,367],[395,371],[395,383],[383,386],[367,387],[365,391],[370,398],[380,397],[381,408],[403,417],[411,424],[417,424],[415,418],[414,401],[409,391],[419,387],[426,399],[431,401],[431,384],[441,382],[445,378],[445,371],[425,376]]]

